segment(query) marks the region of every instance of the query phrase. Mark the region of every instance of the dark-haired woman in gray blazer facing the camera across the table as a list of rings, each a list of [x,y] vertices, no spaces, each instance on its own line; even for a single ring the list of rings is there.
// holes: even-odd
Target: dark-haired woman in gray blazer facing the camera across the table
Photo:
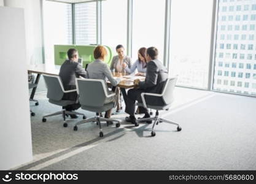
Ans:
[[[114,56],[111,62],[111,71],[112,72],[120,72],[122,74],[130,74],[131,69],[131,58],[125,55],[125,48],[123,45],[117,45],[115,47],[117,51],[117,56]],[[124,90],[124,89],[123,89]],[[115,90],[117,96],[120,96],[120,88]],[[117,112],[122,109],[120,98],[117,98]]]

